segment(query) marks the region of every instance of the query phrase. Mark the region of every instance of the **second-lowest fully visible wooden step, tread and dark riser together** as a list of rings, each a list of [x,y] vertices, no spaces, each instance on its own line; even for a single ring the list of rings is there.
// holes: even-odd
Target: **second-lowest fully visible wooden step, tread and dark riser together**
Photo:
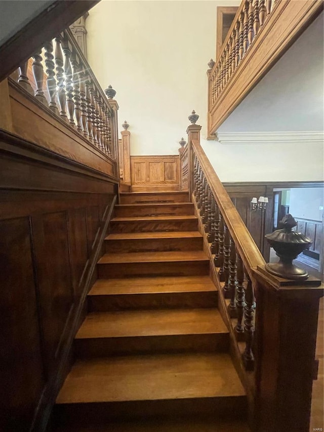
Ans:
[[[75,336],[78,358],[227,348],[228,330],[216,308],[89,313]]]

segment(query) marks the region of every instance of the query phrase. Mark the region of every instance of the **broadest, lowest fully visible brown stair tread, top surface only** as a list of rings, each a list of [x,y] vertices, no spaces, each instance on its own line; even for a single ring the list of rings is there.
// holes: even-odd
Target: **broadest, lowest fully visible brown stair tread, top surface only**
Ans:
[[[228,354],[163,354],[76,361],[56,403],[245,395]]]

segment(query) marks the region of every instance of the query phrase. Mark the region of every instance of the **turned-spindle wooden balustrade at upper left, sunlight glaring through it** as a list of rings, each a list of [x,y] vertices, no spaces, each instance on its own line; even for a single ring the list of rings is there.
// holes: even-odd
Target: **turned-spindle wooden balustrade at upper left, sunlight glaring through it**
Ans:
[[[35,92],[28,79],[28,62],[19,67],[19,85],[98,150],[116,160],[116,92],[109,86],[107,98],[71,31],[64,30],[54,41],[47,42],[32,59]]]

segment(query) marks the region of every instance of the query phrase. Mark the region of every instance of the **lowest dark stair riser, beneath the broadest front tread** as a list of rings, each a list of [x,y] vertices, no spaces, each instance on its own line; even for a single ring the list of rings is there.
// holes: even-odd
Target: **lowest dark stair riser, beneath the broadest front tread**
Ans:
[[[163,418],[184,416],[187,418],[193,415],[209,414],[213,414],[218,419],[246,419],[247,412],[247,399],[244,396],[61,404],[55,407],[55,417],[60,419],[61,423],[74,425],[90,422],[98,424],[112,419],[147,419],[153,416]]]

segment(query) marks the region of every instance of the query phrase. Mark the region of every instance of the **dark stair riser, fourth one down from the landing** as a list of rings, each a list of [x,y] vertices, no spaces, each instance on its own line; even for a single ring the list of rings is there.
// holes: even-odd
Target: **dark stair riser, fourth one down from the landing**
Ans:
[[[180,237],[176,239],[106,240],[105,248],[107,253],[199,251],[203,249],[203,239],[201,237]]]

